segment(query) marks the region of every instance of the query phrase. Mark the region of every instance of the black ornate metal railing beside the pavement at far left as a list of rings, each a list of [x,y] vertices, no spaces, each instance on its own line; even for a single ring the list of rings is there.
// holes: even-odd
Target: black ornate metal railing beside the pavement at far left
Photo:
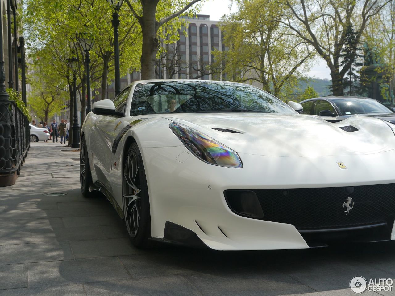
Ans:
[[[15,102],[0,100],[0,187],[15,183],[29,148],[28,119]]]

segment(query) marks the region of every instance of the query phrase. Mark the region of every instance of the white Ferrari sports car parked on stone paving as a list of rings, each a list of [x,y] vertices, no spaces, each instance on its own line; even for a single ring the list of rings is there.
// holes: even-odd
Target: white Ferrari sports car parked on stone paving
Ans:
[[[253,86],[145,80],[93,104],[81,190],[133,244],[301,249],[395,239],[395,125],[329,123]]]

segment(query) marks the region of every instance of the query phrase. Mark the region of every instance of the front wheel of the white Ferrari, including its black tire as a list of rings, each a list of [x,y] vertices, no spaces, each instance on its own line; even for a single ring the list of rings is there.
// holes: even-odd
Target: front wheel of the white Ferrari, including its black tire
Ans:
[[[124,158],[122,204],[132,244],[137,248],[150,248],[152,243],[148,239],[151,236],[151,217],[147,178],[136,143],[129,147]]]

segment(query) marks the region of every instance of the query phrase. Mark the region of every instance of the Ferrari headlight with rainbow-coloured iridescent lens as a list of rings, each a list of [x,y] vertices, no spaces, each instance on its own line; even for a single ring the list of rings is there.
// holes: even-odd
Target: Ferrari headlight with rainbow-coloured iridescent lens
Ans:
[[[235,151],[213,138],[180,123],[170,123],[169,127],[189,151],[204,162],[228,168],[243,167]]]

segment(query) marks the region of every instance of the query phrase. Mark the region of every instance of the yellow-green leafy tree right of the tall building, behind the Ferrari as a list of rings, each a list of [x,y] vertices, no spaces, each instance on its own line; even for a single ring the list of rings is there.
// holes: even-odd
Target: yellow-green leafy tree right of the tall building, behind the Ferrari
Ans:
[[[303,76],[314,53],[306,41],[280,26],[284,9],[270,0],[242,0],[236,13],[222,19],[222,43],[228,50],[213,54],[224,79],[255,81],[277,97],[287,96],[285,88]]]

